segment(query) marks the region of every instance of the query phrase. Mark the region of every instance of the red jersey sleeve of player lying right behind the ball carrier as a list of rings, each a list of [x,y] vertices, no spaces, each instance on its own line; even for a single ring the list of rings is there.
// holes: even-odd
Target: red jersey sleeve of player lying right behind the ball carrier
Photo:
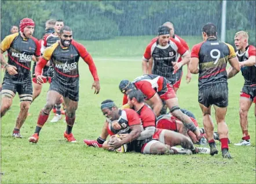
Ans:
[[[142,122],[143,128],[147,128],[149,126],[156,126],[156,115],[147,104],[144,104],[140,110],[137,111],[138,115],[140,115],[140,119]]]

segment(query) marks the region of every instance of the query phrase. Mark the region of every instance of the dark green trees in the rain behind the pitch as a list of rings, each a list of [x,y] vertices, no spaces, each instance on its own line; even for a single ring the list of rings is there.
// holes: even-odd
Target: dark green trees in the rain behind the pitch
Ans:
[[[75,39],[100,40],[115,36],[156,35],[159,25],[174,23],[178,35],[201,35],[207,22],[221,30],[222,1],[1,1],[1,40],[11,25],[32,18],[40,39],[49,18],[63,19]],[[236,31],[249,32],[255,45],[255,1],[227,1],[226,42]]]

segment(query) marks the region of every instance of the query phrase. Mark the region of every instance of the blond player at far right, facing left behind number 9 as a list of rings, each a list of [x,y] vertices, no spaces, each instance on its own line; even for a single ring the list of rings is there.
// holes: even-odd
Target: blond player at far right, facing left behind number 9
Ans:
[[[239,65],[244,77],[244,85],[240,93],[240,126],[242,129],[242,141],[235,144],[237,146],[250,146],[250,135],[248,133],[248,110],[253,102],[255,103],[254,114],[256,117],[256,51],[255,47],[248,44],[248,33],[239,31],[235,35],[236,56],[239,59]],[[228,70],[228,78],[236,73],[232,69]]]

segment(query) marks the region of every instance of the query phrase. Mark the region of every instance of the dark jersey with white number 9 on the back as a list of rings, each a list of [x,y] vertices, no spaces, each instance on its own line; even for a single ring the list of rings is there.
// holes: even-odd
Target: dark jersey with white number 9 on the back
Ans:
[[[212,84],[227,83],[226,62],[236,57],[234,48],[225,42],[209,37],[193,46],[191,58],[199,58],[199,89]]]

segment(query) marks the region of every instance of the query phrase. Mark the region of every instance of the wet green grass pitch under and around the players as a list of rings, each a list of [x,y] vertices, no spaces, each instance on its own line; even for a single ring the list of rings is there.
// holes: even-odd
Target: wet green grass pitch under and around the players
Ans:
[[[121,106],[122,93],[118,84],[123,78],[133,80],[140,76],[141,57],[152,36],[122,37],[115,40],[82,42],[92,53],[98,68],[101,91],[94,95],[90,89],[93,78],[86,63],[79,63],[80,93],[73,133],[78,140],[70,144],[64,140],[63,120],[43,127],[38,144],[30,144],[39,111],[45,104],[48,84],[31,104],[31,116],[21,129],[23,139],[14,139],[12,130],[19,113],[19,97],[1,119],[1,183],[255,183],[255,117],[254,104],[248,113],[251,147],[230,144],[233,159],[218,155],[142,155],[114,153],[85,147],[83,139],[97,138],[104,116],[100,103],[112,99]],[[184,37],[191,47],[201,42],[200,37]],[[106,58],[106,59],[104,59]],[[184,67],[186,73],[186,66]],[[1,74],[3,76],[3,74]],[[232,143],[239,142],[239,95],[243,77],[239,73],[229,80],[229,107],[226,123]],[[192,111],[203,126],[198,105],[198,76],[189,84],[185,74],[178,91],[180,107]],[[214,110],[212,112],[214,119]],[[215,122],[215,121],[214,121]],[[215,124],[216,125],[216,124]],[[216,127],[215,127],[215,130]],[[220,142],[217,142],[220,151]]]

